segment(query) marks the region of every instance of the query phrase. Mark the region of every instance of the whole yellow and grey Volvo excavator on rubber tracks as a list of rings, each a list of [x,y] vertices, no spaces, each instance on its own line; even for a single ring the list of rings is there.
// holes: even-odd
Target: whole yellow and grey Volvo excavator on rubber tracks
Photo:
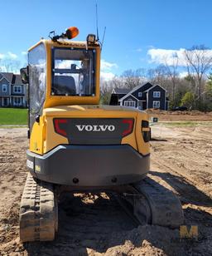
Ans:
[[[99,106],[101,47],[94,34],[71,39],[77,27],[37,42],[21,69],[29,85],[26,185],[20,239],[47,241],[58,230],[63,191],[114,191],[142,224],[177,228],[181,202],[147,177],[148,116],[127,106]]]

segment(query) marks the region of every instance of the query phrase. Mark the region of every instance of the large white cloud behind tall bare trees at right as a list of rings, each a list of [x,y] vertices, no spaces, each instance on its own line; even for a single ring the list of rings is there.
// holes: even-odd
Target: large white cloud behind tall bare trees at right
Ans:
[[[194,50],[198,52],[199,50]],[[147,55],[150,57],[150,61],[156,64],[173,65],[178,62],[179,66],[186,66],[185,62],[185,49],[180,48],[179,50],[171,49],[149,49]],[[212,50],[204,51],[205,57],[212,57]]]

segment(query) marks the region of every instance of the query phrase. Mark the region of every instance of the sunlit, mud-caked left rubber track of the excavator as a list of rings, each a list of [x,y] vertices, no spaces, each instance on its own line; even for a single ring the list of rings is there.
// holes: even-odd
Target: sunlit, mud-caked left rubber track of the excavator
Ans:
[[[22,242],[54,240],[57,210],[53,186],[28,174],[20,206]]]

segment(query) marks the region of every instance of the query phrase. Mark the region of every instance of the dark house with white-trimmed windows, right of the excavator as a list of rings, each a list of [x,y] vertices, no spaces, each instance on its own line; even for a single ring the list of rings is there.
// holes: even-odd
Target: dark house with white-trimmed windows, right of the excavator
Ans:
[[[132,106],[139,110],[157,108],[168,109],[166,90],[150,82],[134,87],[132,90],[116,88],[112,91],[110,105]]]

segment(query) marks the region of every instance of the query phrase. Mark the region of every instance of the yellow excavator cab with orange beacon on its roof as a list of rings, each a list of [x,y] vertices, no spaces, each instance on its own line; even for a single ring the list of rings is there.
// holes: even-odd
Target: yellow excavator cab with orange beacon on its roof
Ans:
[[[71,30],[78,34],[76,27],[65,34]],[[59,42],[60,37],[31,47],[28,66],[21,69],[22,81],[29,84],[30,131],[46,106],[99,103],[99,43],[92,34],[86,42]]]

